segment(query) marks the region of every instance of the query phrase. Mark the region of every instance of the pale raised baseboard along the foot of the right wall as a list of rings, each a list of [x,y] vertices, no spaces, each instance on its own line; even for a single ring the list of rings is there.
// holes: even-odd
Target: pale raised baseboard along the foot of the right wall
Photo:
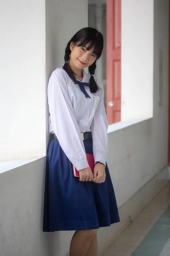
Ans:
[[[130,221],[159,193],[170,179],[170,168],[166,166],[147,182],[132,198],[119,207],[120,222],[98,231],[99,255],[111,246],[113,240],[127,227]]]

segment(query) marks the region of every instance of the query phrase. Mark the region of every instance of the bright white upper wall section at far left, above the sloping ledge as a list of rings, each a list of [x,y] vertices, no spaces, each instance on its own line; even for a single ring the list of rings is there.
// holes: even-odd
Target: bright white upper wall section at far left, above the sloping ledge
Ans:
[[[0,1],[0,161],[45,155],[45,1]]]

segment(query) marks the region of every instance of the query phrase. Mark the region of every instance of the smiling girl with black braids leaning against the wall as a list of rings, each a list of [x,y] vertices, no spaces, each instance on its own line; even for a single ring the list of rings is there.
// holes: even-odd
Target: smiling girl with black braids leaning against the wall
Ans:
[[[70,256],[97,256],[99,227],[119,222],[106,163],[108,120],[104,90],[94,77],[103,36],[79,30],[65,49],[65,64],[48,83],[49,132],[43,231],[76,230]],[[88,67],[89,73],[84,68]],[[87,154],[94,155],[94,173]],[[74,177],[73,166],[79,171]]]

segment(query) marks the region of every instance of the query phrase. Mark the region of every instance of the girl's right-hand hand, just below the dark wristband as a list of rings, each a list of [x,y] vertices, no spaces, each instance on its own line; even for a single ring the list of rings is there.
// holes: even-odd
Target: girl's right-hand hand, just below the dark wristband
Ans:
[[[103,183],[105,182],[105,178],[105,166],[101,163],[96,163],[96,165],[94,166],[94,178],[92,181],[95,183]]]

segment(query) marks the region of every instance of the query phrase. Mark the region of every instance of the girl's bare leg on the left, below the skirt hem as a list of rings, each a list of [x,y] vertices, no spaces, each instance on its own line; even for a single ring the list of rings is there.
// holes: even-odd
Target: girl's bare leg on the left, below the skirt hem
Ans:
[[[70,256],[86,256],[96,232],[97,230],[77,230],[71,240]]]

